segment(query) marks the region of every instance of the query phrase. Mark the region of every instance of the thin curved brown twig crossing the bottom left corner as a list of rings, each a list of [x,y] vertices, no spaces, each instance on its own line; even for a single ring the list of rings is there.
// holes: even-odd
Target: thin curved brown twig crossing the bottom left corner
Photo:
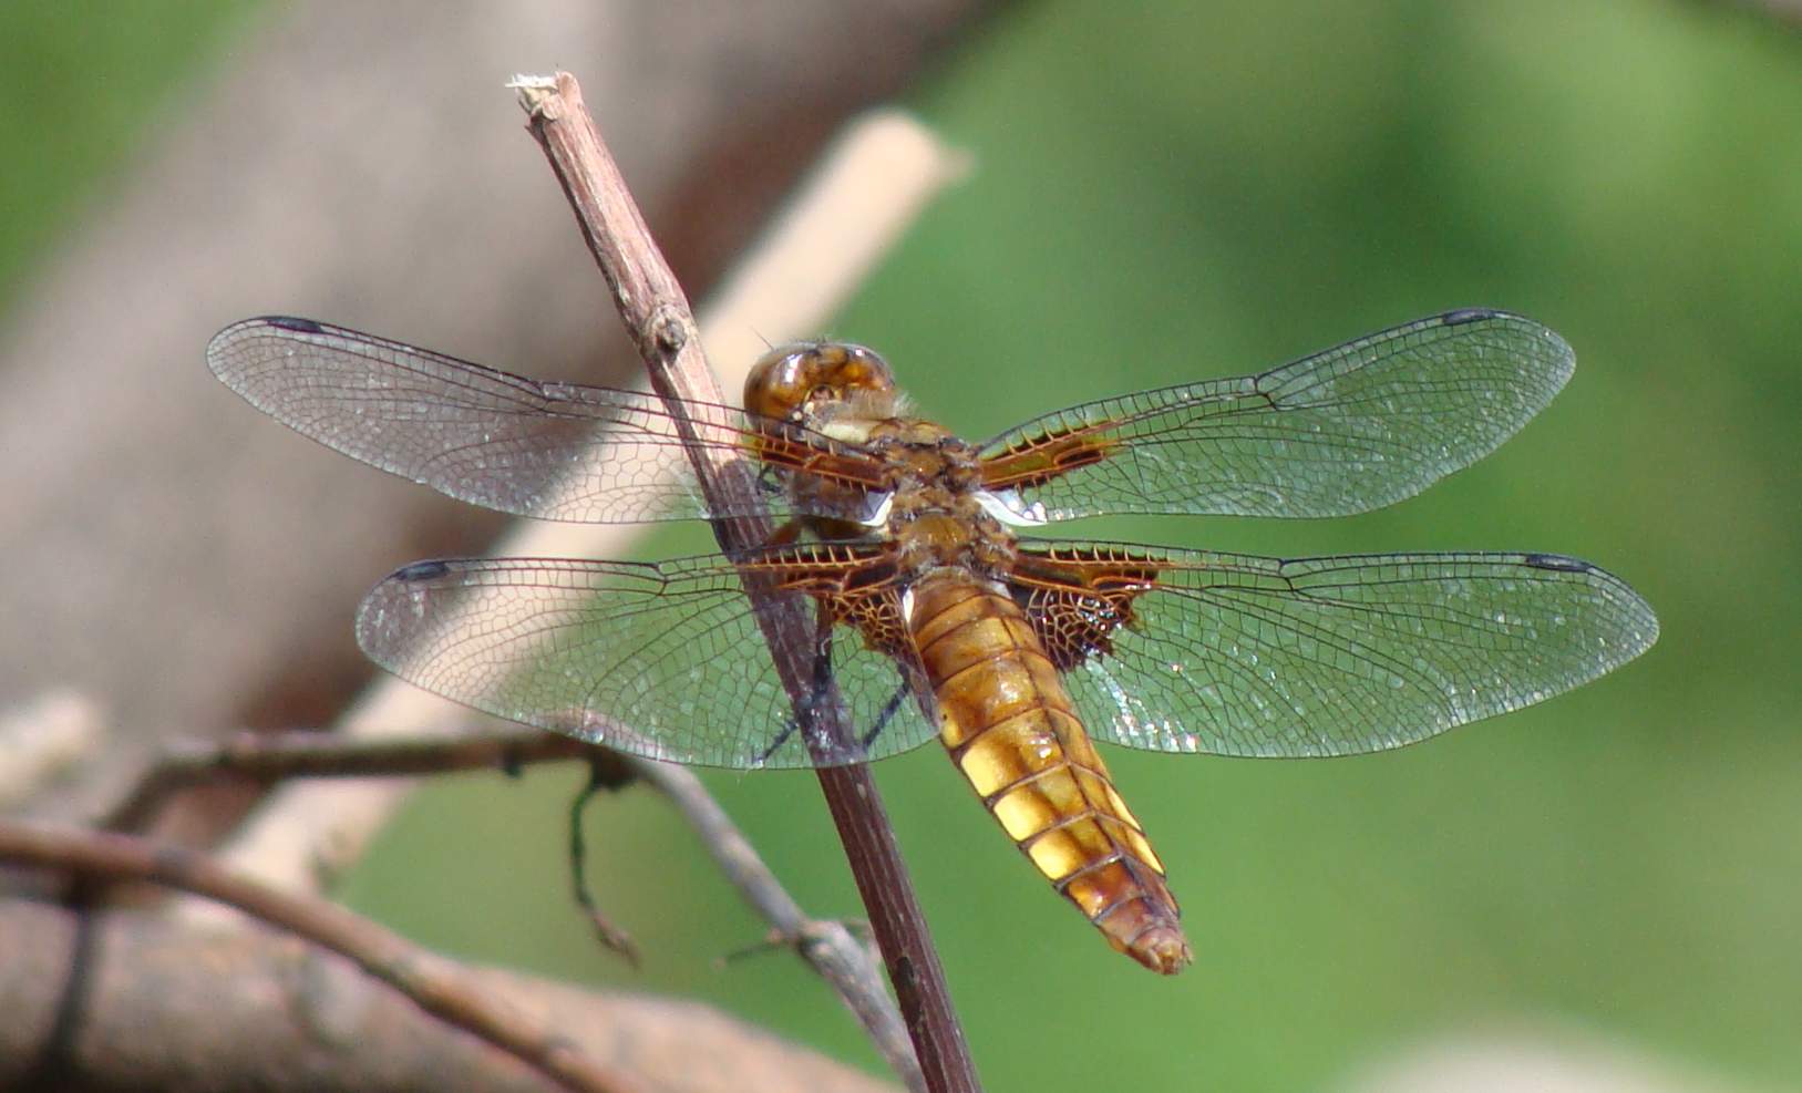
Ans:
[[[276,891],[191,850],[114,832],[0,821],[0,863],[90,881],[162,884],[218,900],[350,958],[427,1014],[481,1037],[566,1089],[640,1089],[625,1075],[595,1064],[553,1028],[496,1005],[456,963],[337,904]]]

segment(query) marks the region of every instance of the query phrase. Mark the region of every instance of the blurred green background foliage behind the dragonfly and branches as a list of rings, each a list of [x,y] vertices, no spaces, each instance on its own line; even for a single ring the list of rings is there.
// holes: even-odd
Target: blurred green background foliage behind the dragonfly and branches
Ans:
[[[79,41],[130,74],[83,85],[112,140],[236,18],[121,5],[97,34],[50,11],[0,13],[45,58],[0,94]],[[1393,754],[1112,751],[1184,900],[1197,965],[1177,980],[1110,953],[941,754],[883,763],[987,1086],[1319,1089],[1422,1039],[1523,1025],[1802,1082],[1802,32],[1651,0],[1022,5],[908,104],[977,171],[831,333],[878,346],[966,436],[1461,304],[1577,348],[1575,380],[1517,439],[1393,510],[1078,533],[1562,551],[1663,621],[1589,688]],[[0,200],[45,209],[0,220],[16,290],[119,151],[0,140]],[[811,776],[706,780],[804,906],[860,913]],[[715,967],[762,926],[647,792],[591,816],[604,902],[647,967],[596,953],[544,897],[564,890],[577,783],[436,785],[348,897],[450,953],[708,999],[878,1068],[798,962]]]

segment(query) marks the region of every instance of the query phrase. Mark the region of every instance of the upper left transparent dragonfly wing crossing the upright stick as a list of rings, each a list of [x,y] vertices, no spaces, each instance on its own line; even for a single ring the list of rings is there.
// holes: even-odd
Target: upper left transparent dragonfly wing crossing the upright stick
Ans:
[[[663,400],[643,391],[539,384],[285,317],[227,326],[207,346],[207,364],[290,429],[485,508],[591,524],[755,515],[708,508]],[[787,425],[759,432],[732,407],[685,409],[701,448],[741,459],[762,452],[777,466],[874,486],[872,465],[849,445]],[[786,490],[766,493],[769,511],[793,515]]]

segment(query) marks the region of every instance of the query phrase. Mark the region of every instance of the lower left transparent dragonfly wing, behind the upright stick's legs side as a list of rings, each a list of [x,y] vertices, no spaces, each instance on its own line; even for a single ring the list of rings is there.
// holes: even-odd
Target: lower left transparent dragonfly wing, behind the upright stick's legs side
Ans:
[[[744,571],[825,592],[854,582],[865,562],[845,549],[786,547],[748,556]],[[840,765],[935,735],[897,661],[838,628],[833,677],[863,749],[811,754],[741,569],[719,556],[416,562],[364,598],[357,641],[447,699],[678,763]]]

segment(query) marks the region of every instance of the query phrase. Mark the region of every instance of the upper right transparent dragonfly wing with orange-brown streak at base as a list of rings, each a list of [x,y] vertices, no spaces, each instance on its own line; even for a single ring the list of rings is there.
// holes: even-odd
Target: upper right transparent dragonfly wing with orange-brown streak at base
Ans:
[[[1552,402],[1573,360],[1521,315],[1449,312],[1258,376],[1045,414],[984,445],[984,484],[1052,520],[1361,513],[1496,450]]]

